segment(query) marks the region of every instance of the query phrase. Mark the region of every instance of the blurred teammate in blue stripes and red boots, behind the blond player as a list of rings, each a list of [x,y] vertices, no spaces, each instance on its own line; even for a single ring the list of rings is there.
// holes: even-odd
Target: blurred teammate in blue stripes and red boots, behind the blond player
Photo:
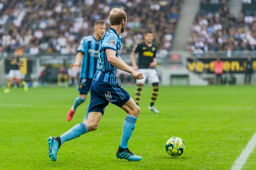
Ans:
[[[67,113],[67,121],[70,121],[73,118],[74,113],[76,112],[76,108],[81,105],[87,98],[87,93],[90,90],[93,76],[96,73],[99,45],[106,31],[105,22],[102,20],[97,21],[94,26],[94,31],[95,32],[92,36],[83,37],[77,49],[78,53],[76,55],[76,62],[73,64],[72,69],[73,71],[78,72],[79,64],[82,60],[79,87],[77,89],[80,95],[76,97],[73,106]],[[84,120],[87,119],[88,108]]]

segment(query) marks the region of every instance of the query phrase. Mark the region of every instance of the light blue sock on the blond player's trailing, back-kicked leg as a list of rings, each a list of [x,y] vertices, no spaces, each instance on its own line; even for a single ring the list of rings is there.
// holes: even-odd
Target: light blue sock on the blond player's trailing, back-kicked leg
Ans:
[[[84,122],[81,122],[60,136],[61,144],[63,144],[64,142],[67,142],[69,140],[75,139],[87,132],[88,132],[87,126],[85,125]]]

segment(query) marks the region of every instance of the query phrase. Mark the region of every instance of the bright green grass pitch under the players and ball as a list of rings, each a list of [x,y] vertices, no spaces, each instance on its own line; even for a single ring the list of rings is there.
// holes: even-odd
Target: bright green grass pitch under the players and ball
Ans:
[[[125,89],[134,96],[135,87]],[[141,114],[129,141],[130,150],[143,158],[139,162],[116,159],[126,114],[115,105],[108,105],[98,130],[63,144],[52,162],[46,139],[81,122],[89,100],[67,122],[78,96],[75,88],[1,92],[0,169],[230,170],[256,132],[255,86],[160,87],[160,114],[147,110],[151,91],[143,88]],[[176,158],[165,150],[173,136],[186,144]],[[255,170],[255,159],[254,149],[243,170]]]

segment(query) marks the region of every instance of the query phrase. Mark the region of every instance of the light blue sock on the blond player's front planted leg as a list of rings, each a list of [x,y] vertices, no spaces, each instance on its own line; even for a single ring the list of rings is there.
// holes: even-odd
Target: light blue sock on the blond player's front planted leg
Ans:
[[[124,149],[128,148],[128,141],[131,137],[131,134],[134,131],[136,121],[137,121],[137,118],[134,116],[127,115],[125,117],[120,147]]]

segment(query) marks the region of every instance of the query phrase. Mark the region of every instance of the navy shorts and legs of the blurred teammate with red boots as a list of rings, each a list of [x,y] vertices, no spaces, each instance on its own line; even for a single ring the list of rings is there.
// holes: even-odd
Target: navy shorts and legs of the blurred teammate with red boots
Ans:
[[[67,121],[70,121],[75,112],[76,112],[76,108],[81,105],[83,102],[85,102],[85,100],[87,99],[87,94],[90,91],[90,86],[92,83],[92,79],[84,79],[81,78],[80,82],[79,82],[79,87],[77,90],[79,90],[79,96],[76,97],[73,106],[70,108],[69,112],[67,113]],[[88,111],[86,112],[86,116],[88,116]]]

